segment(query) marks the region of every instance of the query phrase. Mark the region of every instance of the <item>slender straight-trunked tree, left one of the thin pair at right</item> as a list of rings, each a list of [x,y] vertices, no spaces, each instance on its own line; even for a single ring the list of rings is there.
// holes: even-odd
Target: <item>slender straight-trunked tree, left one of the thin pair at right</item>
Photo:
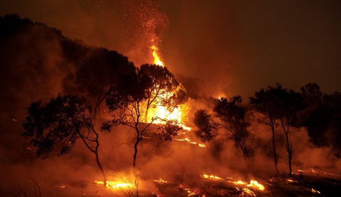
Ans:
[[[279,84],[276,84],[277,88],[279,88]],[[274,154],[275,168],[276,172],[279,173],[277,168],[277,154],[276,154],[276,144],[275,144],[275,128],[278,126],[276,124],[277,118],[277,108],[276,108],[276,100],[277,93],[276,88],[272,86],[268,86],[266,90],[261,89],[255,92],[254,97],[249,97],[249,103],[253,105],[259,112],[265,114],[267,117],[267,122],[265,125],[269,125],[272,132],[272,148]]]

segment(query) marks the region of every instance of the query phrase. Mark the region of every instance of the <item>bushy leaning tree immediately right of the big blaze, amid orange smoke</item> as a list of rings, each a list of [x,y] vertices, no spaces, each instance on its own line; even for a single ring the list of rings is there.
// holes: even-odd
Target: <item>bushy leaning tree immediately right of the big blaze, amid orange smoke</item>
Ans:
[[[242,101],[241,96],[216,99],[213,111],[219,121],[215,121],[206,110],[201,109],[194,114],[194,125],[199,128],[198,133],[203,142],[218,135],[227,135],[243,151],[243,156],[250,158],[253,156],[253,149],[247,144],[248,123],[245,121],[246,109]],[[218,134],[217,130],[220,128],[225,129],[227,134]]]

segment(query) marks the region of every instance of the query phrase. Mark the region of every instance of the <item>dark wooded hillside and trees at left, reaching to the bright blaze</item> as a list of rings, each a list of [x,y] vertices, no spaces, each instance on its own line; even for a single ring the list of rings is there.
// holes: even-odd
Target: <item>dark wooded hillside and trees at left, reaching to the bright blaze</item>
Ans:
[[[31,85],[28,89],[33,90],[37,87],[53,89],[61,84],[56,89],[60,93],[35,95],[33,91],[33,102],[25,106],[21,135],[30,139],[38,158],[44,159],[52,152],[69,153],[80,141],[95,155],[106,184],[98,155],[98,127],[108,132],[121,130],[122,126],[135,131],[132,145],[134,173],[138,144],[144,141],[152,125],[159,138],[166,141],[171,141],[182,129],[179,122],[165,117],[186,103],[188,96],[166,67],[152,64],[137,67],[116,51],[85,46],[62,36],[55,28],[21,19],[16,14],[1,17],[0,27],[5,30],[1,32],[0,39],[4,43],[1,51],[7,53],[0,62],[1,73],[3,76],[16,73],[13,84],[6,83],[5,77],[2,79],[3,92],[16,99],[6,98],[13,105],[3,103],[2,112],[11,112],[10,107],[20,103],[20,91],[27,90],[27,86]],[[54,80],[51,77],[55,75],[58,77]],[[13,89],[17,92],[11,92]],[[25,102],[21,100],[21,103]],[[112,116],[105,122],[96,123],[96,120],[100,121],[97,118],[104,105]],[[165,117],[149,116],[149,109],[157,106],[166,109]],[[163,124],[155,125],[160,122]]]

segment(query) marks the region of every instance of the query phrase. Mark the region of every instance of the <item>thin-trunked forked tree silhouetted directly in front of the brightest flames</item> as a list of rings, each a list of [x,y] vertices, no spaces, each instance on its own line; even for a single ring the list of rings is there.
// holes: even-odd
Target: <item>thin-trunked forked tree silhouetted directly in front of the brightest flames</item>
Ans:
[[[113,119],[102,125],[102,130],[111,131],[117,125],[124,125],[132,128],[136,133],[135,143],[132,145],[133,154],[133,173],[136,174],[136,157],[138,152],[138,144],[144,139],[145,134],[149,131],[150,126],[154,125],[156,120],[164,121],[165,124],[155,125],[160,132],[161,139],[171,141],[172,136],[177,136],[177,131],[182,127],[176,120],[162,120],[159,117],[152,117],[149,123],[145,123],[144,106],[146,100],[150,99],[151,87],[156,87],[154,83],[157,81],[150,78],[150,75],[135,75],[125,77],[120,81],[119,89],[111,89],[110,94],[106,98],[106,105],[110,112],[113,113]],[[164,73],[168,74],[168,73]]]

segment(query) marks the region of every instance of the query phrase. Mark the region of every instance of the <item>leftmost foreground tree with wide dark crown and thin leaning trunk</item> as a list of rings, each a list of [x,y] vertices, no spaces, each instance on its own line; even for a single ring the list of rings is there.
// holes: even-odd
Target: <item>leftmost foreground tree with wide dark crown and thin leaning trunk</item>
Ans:
[[[81,139],[85,146],[95,154],[104,185],[107,178],[98,157],[99,135],[95,131],[92,107],[85,98],[76,95],[57,95],[49,103],[41,100],[31,103],[23,121],[26,139],[37,147],[37,157],[47,158],[54,149],[58,156],[69,153],[76,141]]]

